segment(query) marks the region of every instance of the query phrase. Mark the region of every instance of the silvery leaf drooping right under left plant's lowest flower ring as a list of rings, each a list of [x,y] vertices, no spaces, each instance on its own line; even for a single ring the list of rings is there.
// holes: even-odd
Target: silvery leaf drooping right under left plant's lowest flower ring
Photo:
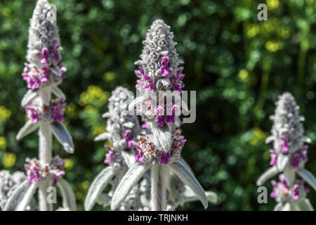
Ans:
[[[74,196],[74,192],[70,184],[65,179],[58,180],[58,187],[62,193],[62,207],[68,208],[70,211],[76,211],[77,204],[76,204],[76,197]]]

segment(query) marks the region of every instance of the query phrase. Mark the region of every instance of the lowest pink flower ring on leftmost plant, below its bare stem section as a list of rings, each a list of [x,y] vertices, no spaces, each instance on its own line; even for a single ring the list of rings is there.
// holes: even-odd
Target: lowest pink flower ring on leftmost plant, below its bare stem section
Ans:
[[[27,162],[27,164],[24,165],[27,171],[27,181],[30,183],[38,182],[51,176],[53,177],[53,186],[56,186],[58,179],[65,175],[65,172],[62,170],[62,167],[65,165],[65,160],[58,157],[53,158],[49,165],[41,165],[39,160],[35,158],[27,158],[25,161]]]

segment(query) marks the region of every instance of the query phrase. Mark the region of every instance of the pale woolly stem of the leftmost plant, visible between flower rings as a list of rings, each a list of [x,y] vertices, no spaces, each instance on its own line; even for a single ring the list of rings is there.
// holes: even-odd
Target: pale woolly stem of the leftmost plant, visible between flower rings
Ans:
[[[51,89],[44,89],[39,92],[43,105],[49,105],[51,101]],[[49,165],[51,163],[52,153],[52,133],[51,133],[51,122],[41,121],[39,124],[39,162],[41,165]],[[40,211],[51,211],[53,206],[47,202],[47,188],[52,185],[52,180],[47,178],[42,181],[39,186],[39,210]]]

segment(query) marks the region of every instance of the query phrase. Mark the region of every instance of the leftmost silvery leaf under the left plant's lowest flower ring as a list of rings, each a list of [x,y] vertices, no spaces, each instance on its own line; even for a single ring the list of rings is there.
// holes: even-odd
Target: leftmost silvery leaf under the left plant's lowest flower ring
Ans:
[[[10,195],[8,201],[6,202],[6,206],[4,207],[4,211],[15,211],[16,207],[18,207],[21,200],[24,198],[25,193],[29,190],[29,186],[31,184],[29,181],[23,181]]]

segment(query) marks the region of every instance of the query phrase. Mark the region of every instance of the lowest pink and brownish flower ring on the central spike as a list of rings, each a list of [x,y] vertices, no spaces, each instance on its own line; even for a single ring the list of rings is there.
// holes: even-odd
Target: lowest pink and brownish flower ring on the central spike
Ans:
[[[161,148],[157,148],[156,141],[152,135],[145,134],[138,136],[138,141],[132,141],[131,145],[136,148],[136,162],[146,164],[152,162],[154,165],[168,164],[169,162],[175,162],[181,158],[181,149],[185,144],[185,139],[181,135],[180,129],[173,134],[171,148],[168,151],[164,151]]]

